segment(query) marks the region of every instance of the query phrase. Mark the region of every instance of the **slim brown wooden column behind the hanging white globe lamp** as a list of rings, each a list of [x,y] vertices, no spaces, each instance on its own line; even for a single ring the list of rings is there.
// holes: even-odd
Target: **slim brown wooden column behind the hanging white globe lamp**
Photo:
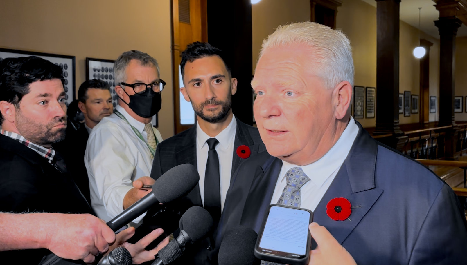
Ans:
[[[426,54],[420,59],[420,123],[429,122],[430,114],[430,47],[433,43],[425,39],[420,40]]]

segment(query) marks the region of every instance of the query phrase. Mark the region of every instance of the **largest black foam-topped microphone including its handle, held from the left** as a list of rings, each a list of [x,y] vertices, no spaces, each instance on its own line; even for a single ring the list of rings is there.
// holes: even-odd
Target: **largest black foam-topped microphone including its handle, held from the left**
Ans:
[[[151,206],[159,202],[171,202],[187,195],[198,184],[198,181],[198,170],[193,165],[182,164],[172,167],[156,180],[151,193],[115,216],[107,225],[113,231],[117,231],[142,215]]]

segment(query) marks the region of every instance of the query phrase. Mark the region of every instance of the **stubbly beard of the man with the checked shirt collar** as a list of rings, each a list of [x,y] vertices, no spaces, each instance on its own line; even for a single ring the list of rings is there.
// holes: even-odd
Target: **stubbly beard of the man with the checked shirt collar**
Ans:
[[[22,115],[19,108],[16,110],[16,128],[21,136],[28,141],[40,146],[49,146],[65,139],[65,117],[55,117],[48,124],[42,124]],[[65,123],[65,126],[63,128],[54,129],[54,126],[57,126],[59,123]]]

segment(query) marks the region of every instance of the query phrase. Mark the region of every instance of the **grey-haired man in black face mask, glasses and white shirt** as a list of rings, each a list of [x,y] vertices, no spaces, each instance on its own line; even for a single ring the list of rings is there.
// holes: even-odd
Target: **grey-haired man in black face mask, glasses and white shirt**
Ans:
[[[92,129],[85,152],[91,206],[106,222],[151,192],[142,185],[154,183],[149,174],[162,137],[151,120],[165,85],[156,59],[141,51],[124,52],[113,69],[118,105]]]

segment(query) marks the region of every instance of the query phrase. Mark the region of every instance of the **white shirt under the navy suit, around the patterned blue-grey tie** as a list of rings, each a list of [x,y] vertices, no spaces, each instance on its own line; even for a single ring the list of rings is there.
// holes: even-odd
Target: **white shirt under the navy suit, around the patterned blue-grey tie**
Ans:
[[[350,148],[357,137],[357,133],[358,126],[355,124],[354,118],[350,117],[349,124],[344,132],[342,132],[342,135],[340,135],[339,140],[337,140],[334,146],[319,160],[305,166],[297,166],[282,161],[281,172],[277,179],[271,204],[276,204],[282,195],[287,182],[285,177],[287,170],[292,167],[301,167],[304,174],[306,174],[310,180],[300,188],[300,195],[302,197],[300,208],[314,211],[336,177],[340,166],[342,166],[342,163],[344,163],[344,160],[347,158]]]

